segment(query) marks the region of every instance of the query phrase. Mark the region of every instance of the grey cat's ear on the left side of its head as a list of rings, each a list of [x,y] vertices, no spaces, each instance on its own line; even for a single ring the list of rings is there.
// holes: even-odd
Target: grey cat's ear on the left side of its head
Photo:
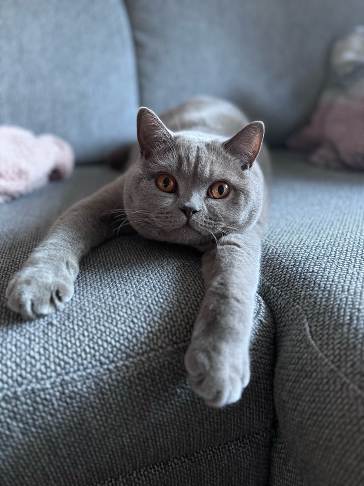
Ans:
[[[145,158],[149,158],[153,151],[161,145],[170,145],[172,134],[158,118],[158,116],[149,108],[139,108],[136,116],[136,134]]]

